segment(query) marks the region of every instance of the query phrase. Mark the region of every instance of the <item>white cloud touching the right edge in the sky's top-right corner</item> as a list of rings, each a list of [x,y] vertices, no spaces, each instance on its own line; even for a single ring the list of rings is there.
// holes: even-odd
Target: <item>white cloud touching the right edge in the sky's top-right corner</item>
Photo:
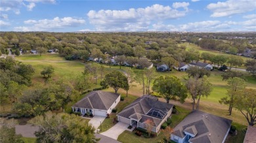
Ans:
[[[256,3],[253,0],[228,0],[210,3],[207,8],[213,12],[211,17],[223,17],[255,10]]]

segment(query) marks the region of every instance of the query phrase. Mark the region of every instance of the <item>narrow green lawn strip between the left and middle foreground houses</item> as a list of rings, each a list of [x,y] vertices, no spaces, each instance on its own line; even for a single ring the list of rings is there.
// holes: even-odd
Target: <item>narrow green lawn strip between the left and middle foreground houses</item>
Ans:
[[[117,119],[116,114],[118,112],[120,112],[121,110],[123,110],[123,108],[125,108],[127,105],[131,104],[133,101],[135,101],[135,99],[137,99],[138,97],[133,96],[133,95],[128,95],[128,97],[126,97],[125,95],[121,95],[121,97],[125,97],[124,101],[120,101],[116,108],[117,108],[117,112],[116,113],[112,113],[110,114],[110,118],[106,118],[104,119],[104,121],[101,124],[101,127],[98,127],[98,129],[101,129],[100,132],[104,132],[107,131],[108,129],[110,129],[111,127],[113,127],[115,125],[115,123],[113,123],[114,118]]]

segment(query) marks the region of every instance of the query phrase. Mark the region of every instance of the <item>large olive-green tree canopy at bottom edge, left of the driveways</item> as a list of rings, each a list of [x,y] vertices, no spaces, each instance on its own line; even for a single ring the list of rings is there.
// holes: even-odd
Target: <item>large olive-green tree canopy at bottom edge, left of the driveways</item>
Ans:
[[[54,114],[36,116],[29,123],[39,127],[35,132],[37,142],[98,142],[95,129],[85,119],[75,114]]]

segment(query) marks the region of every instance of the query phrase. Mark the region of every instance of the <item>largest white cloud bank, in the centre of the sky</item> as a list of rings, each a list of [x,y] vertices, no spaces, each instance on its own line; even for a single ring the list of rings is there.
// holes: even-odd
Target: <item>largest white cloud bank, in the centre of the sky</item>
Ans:
[[[186,3],[177,3],[175,7],[184,10],[156,4],[129,10],[90,10],[87,16],[97,31],[144,31],[154,21],[181,18],[188,12]]]

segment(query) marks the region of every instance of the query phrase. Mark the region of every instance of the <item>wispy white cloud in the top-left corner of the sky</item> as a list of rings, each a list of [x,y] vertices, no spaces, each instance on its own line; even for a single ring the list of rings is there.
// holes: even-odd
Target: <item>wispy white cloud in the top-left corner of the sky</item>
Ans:
[[[1,0],[0,11],[12,11],[15,14],[20,14],[20,8],[26,7],[32,10],[36,3],[56,3],[56,0]]]

